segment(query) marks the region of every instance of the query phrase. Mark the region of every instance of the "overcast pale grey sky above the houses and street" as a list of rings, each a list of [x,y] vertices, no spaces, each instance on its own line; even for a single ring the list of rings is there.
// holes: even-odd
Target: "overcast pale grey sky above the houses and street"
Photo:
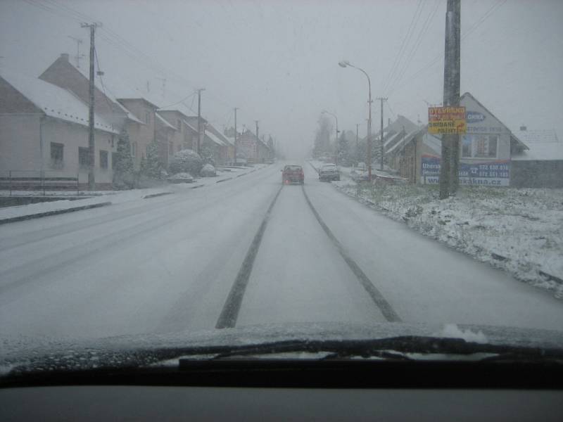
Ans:
[[[233,124],[272,134],[290,155],[312,146],[322,109],[339,129],[366,132],[367,79],[388,96],[385,120],[427,120],[440,103],[446,0],[405,1],[65,1],[0,0],[0,73],[39,75],[89,37],[97,20],[103,82],[119,97],[158,106],[182,98],[219,129]],[[563,1],[462,0],[461,91],[507,126],[563,136]],[[411,25],[412,24],[412,25]],[[412,28],[412,29],[411,29]],[[410,34],[410,36],[409,36]],[[401,46],[403,54],[400,55]],[[395,64],[395,66],[393,66]],[[87,58],[81,68],[87,69]],[[165,79],[165,82],[163,82]],[[164,83],[164,86],[163,86]],[[379,129],[379,104],[373,108]],[[192,113],[193,114],[193,113]]]

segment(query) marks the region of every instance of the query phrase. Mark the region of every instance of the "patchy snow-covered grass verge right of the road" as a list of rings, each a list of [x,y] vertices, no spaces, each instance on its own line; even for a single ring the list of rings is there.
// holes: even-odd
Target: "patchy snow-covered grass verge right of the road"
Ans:
[[[563,299],[563,189],[357,184],[341,169],[333,185],[412,229]],[[557,280],[559,279],[559,280]]]

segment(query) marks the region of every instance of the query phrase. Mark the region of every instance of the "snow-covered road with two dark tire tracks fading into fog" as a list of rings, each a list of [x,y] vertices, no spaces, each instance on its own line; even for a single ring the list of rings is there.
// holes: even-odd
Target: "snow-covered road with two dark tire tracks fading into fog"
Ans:
[[[563,302],[281,164],[0,226],[0,335],[284,322],[563,327]]]

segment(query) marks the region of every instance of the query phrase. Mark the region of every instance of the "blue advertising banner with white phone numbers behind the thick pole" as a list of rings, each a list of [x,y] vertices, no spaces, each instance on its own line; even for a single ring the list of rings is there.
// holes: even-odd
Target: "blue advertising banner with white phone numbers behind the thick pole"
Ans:
[[[441,158],[422,155],[422,183],[438,184]],[[510,160],[460,162],[460,184],[481,186],[509,186]]]

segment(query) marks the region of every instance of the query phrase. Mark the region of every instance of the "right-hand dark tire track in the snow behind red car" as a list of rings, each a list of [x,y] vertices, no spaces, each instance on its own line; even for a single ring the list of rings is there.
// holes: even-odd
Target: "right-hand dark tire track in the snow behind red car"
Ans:
[[[319,215],[317,210],[315,210],[315,207],[313,207],[309,197],[307,196],[307,192],[305,192],[305,186],[301,186],[301,188],[303,189],[303,195],[305,195],[305,200],[307,200],[307,203],[308,203],[313,215],[315,215],[317,222],[319,222],[322,229],[324,230],[324,233],[327,234],[327,236],[332,241],[332,243],[334,243],[334,245],[336,246],[336,249],[339,250],[341,257],[346,262],[346,264],[348,264],[348,267],[350,267],[350,269],[355,274],[355,276],[358,277],[358,281],[360,281],[363,288],[365,288],[365,290],[367,291],[367,294],[372,299],[374,304],[377,305],[377,307],[379,307],[381,314],[383,314],[383,316],[385,316],[387,321],[400,322],[401,319],[398,316],[398,314],[395,312],[393,307],[391,307],[391,304],[389,302],[387,302],[387,300],[384,298],[384,296],[381,294],[381,292],[379,290],[377,290],[377,288],[374,286],[374,283],[372,283],[372,281],[369,280],[369,278],[364,273],[364,271],[362,271],[360,266],[350,257],[350,255],[348,255],[348,252],[343,247],[343,245],[339,242],[339,240],[336,238],[336,236],[334,236],[331,229],[329,229],[329,226],[327,226],[327,224],[324,223],[321,216]]]

